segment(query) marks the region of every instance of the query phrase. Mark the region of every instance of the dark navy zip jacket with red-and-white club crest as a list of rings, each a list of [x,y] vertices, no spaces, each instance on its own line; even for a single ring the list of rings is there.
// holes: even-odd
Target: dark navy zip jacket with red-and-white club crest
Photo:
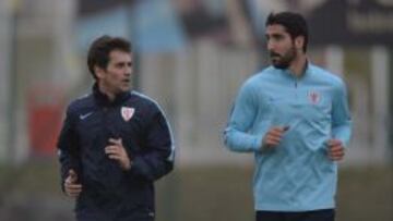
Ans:
[[[130,171],[105,154],[109,138],[122,139]],[[109,101],[95,85],[68,107],[58,149],[61,183],[74,169],[83,185],[76,220],[154,220],[153,183],[172,170],[175,157],[170,127],[155,101],[135,91]]]

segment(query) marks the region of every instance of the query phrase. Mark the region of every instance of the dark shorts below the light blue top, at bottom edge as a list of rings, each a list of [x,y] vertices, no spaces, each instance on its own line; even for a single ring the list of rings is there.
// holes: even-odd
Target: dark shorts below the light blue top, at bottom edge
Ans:
[[[334,209],[303,212],[257,211],[257,221],[334,221]]]

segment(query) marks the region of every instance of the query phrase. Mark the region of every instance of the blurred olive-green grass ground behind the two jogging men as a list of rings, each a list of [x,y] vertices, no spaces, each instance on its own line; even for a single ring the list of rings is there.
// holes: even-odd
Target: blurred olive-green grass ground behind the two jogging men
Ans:
[[[177,168],[157,183],[157,221],[252,221],[251,176],[252,168]],[[392,168],[342,169],[337,204],[337,221],[393,220]],[[60,193],[57,162],[0,167],[0,220],[26,220],[24,212],[29,221],[69,221],[72,205]]]

